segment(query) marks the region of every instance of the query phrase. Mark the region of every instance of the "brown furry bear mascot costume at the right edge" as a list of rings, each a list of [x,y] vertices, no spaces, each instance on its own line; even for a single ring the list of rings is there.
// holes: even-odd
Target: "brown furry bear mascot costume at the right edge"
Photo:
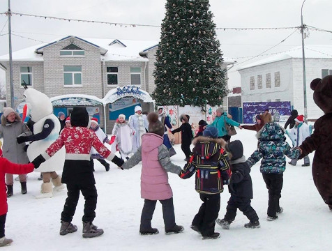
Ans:
[[[314,133],[299,146],[300,158],[316,150],[312,177],[319,194],[332,211],[332,75],[312,80],[310,88],[324,116],[317,119]]]

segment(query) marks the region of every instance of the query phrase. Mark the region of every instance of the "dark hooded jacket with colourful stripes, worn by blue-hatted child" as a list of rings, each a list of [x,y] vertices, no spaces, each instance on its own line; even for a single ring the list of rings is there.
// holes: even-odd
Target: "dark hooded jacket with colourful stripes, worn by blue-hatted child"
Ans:
[[[195,190],[202,194],[218,194],[224,190],[223,181],[231,174],[223,139],[197,137],[190,160],[180,173],[181,178],[195,174]]]

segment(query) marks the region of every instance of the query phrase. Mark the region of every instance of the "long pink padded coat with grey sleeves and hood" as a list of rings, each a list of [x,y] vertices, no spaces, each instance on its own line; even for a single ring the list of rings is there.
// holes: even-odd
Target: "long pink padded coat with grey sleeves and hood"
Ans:
[[[172,164],[163,137],[154,133],[142,136],[142,146],[122,167],[130,169],[142,160],[141,197],[150,200],[163,200],[173,197],[168,183],[167,172],[179,174],[181,167]]]

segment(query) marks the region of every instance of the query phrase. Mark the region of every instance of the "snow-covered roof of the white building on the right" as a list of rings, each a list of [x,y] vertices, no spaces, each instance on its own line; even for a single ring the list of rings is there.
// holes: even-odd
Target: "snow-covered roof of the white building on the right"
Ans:
[[[305,59],[332,59],[332,45],[305,45],[304,47]],[[246,66],[237,68],[243,70],[254,66],[262,66],[266,63],[273,63],[285,59],[302,59],[302,47],[294,47],[288,52],[269,56],[266,59],[249,63]]]

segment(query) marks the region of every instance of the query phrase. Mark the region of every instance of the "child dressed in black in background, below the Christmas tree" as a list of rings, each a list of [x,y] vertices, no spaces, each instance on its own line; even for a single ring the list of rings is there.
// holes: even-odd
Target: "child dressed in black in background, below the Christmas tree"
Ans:
[[[182,114],[180,116],[180,121],[182,122],[182,125],[179,128],[172,130],[172,134],[175,132],[181,132],[181,149],[186,155],[186,161],[188,161],[191,153],[190,144],[193,140],[193,131],[191,130],[191,126],[189,124],[188,115]]]

